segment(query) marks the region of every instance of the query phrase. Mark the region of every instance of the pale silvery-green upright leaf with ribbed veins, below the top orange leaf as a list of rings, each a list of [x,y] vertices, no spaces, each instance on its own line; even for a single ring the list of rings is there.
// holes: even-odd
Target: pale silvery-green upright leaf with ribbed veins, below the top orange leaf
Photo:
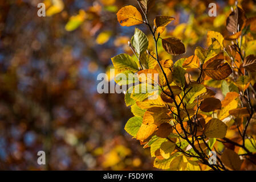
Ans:
[[[135,28],[131,43],[139,57],[141,56],[141,53],[145,52],[148,48],[148,38],[139,28]]]

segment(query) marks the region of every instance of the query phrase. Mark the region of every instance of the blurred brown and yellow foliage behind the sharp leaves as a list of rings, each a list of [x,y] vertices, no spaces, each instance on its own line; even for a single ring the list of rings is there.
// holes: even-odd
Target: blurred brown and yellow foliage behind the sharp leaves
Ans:
[[[37,15],[40,2],[46,17]],[[209,30],[227,35],[235,1],[214,1],[217,17],[208,15],[212,2],[156,0],[149,20],[176,18],[162,36],[175,36],[186,46],[186,55],[174,58],[160,49],[161,59],[193,55],[196,46],[207,46]],[[121,27],[116,19],[125,5],[137,3],[0,0],[0,169],[155,169],[149,149],[124,131],[132,117],[124,95],[96,92],[96,77],[109,74],[110,58],[132,55],[127,42],[134,28]],[[256,15],[255,1],[239,5],[247,17]],[[146,27],[137,27],[149,35]],[[47,155],[44,166],[37,164],[40,150]]]

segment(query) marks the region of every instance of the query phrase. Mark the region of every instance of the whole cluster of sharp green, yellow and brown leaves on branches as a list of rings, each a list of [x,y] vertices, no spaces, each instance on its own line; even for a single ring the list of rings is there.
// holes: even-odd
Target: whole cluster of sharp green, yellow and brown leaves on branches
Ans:
[[[169,55],[182,55],[185,46],[177,38],[161,38],[165,27],[174,20],[171,16],[156,16],[154,26],[148,12],[154,1],[138,0],[143,15],[134,6],[125,6],[117,13],[121,26],[145,24],[155,43],[143,31],[135,28],[128,42],[135,58],[120,54],[112,58],[118,73],[136,73],[138,78],[116,80],[119,85],[130,85],[125,103],[135,115],[125,130],[150,147],[156,157],[154,167],[171,170],[239,170],[245,160],[255,164],[255,135],[249,135],[250,122],[255,120],[256,52],[254,32],[256,18],[246,18],[238,6],[226,19],[230,35],[209,31],[208,48],[198,46],[194,55],[172,60],[161,60],[158,49]],[[144,18],[143,18],[144,17]],[[197,71],[197,75],[190,71]],[[140,75],[159,74],[158,85]],[[152,79],[152,77],[151,77]],[[153,80],[155,82],[156,80]],[[220,85],[224,100],[216,95]],[[137,93],[135,90],[142,89]],[[147,88],[147,89],[145,89]],[[217,154],[217,163],[209,163],[209,151]]]

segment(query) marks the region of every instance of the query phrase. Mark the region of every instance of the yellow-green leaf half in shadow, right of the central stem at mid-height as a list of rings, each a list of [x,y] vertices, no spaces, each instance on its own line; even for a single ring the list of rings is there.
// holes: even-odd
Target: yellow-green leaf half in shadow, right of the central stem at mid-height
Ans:
[[[191,88],[192,87],[192,88]],[[200,96],[201,94],[206,92],[206,88],[204,85],[201,84],[193,84],[191,87],[186,88],[185,93],[189,92],[185,96],[185,101],[189,104],[192,104],[194,100],[197,98],[197,96]]]

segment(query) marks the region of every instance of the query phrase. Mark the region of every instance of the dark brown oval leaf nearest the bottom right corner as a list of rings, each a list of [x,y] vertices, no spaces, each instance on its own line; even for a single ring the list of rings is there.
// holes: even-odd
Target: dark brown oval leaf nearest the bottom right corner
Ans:
[[[221,160],[226,167],[229,167],[233,170],[239,170],[242,165],[242,160],[239,158],[239,155],[232,150],[225,149],[221,155]]]

